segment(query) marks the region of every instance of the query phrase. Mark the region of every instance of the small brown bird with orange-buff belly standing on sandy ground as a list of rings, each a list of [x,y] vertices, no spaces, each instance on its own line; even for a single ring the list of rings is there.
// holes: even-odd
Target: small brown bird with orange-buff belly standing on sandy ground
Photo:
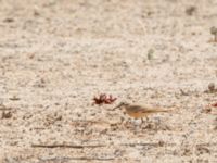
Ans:
[[[142,105],[133,105],[126,102],[120,102],[117,106],[115,106],[113,110],[120,108],[125,109],[125,112],[130,116],[135,118],[141,118],[143,122],[143,117],[146,117],[151,114],[155,113],[166,113],[170,112],[171,110],[163,110],[159,108],[149,108],[149,106],[142,106]]]

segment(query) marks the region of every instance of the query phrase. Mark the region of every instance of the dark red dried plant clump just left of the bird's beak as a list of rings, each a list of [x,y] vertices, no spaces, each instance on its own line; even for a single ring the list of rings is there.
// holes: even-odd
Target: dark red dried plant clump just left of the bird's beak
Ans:
[[[105,93],[101,93],[99,97],[93,98],[93,103],[92,104],[112,104],[117,98],[113,98],[112,95],[107,96]]]

